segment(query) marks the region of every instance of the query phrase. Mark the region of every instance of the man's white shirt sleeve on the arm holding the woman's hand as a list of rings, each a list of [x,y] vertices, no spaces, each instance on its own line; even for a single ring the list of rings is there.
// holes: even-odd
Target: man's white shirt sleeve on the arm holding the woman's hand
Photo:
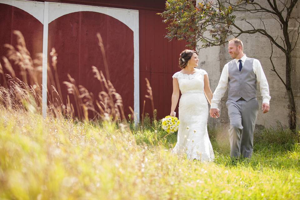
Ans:
[[[218,108],[218,104],[220,103],[221,98],[224,96],[227,87],[228,87],[228,64],[224,65],[218,86],[212,95],[212,105],[210,106],[210,108]]]

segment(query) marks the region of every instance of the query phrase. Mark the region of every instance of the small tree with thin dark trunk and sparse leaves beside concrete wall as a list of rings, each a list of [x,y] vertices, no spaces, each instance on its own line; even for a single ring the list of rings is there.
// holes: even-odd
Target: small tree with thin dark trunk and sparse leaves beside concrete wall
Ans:
[[[200,49],[221,45],[226,43],[229,37],[238,37],[246,33],[259,33],[267,37],[272,50],[270,55],[272,71],[286,88],[289,99],[289,125],[294,130],[297,115],[291,84],[291,73],[294,67],[292,51],[300,35],[300,22],[292,17],[292,12],[297,2],[298,0],[202,0],[196,5],[195,0],[167,0],[166,11],[160,14],[164,18],[163,22],[168,23],[166,37],[169,40],[173,38],[186,40],[190,48]],[[237,21],[238,13],[246,17],[239,18]],[[281,35],[274,36],[265,26],[267,23],[265,16],[271,16],[271,21],[273,19],[280,25]],[[260,25],[256,26],[248,17],[260,20]],[[240,20],[244,22],[243,25]],[[292,28],[290,28],[291,21]],[[200,43],[202,45],[197,46]],[[285,77],[279,75],[272,61],[273,46],[279,48],[286,58]]]

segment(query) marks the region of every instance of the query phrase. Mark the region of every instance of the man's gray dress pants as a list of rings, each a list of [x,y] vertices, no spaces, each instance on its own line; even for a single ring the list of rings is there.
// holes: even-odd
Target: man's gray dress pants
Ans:
[[[230,119],[230,157],[250,158],[253,152],[253,132],[258,112],[257,98],[248,102],[228,99],[226,102]]]

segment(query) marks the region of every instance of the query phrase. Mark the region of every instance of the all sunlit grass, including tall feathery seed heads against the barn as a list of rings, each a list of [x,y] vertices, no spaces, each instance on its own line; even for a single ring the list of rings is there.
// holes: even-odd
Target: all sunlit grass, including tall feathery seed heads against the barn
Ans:
[[[64,83],[75,104],[63,105],[56,84],[55,49],[51,52],[54,75],[48,69],[52,86],[48,118],[43,119],[36,80],[41,71],[34,71],[39,68],[33,65],[39,62],[27,62],[31,71],[22,72],[30,83],[26,84],[26,77],[23,82],[15,77],[10,63],[30,54],[22,34],[14,34],[19,45],[16,49],[6,45],[8,58],[4,59],[11,76],[0,65],[3,79],[8,78],[0,86],[0,199],[299,199],[299,134],[282,127],[264,129],[255,133],[251,159],[232,160],[227,130],[208,127],[215,161],[187,160],[170,151],[177,135],[164,132],[156,120],[148,80],[146,97],[151,100],[153,119],[143,110],[139,125],[130,117],[127,122],[122,98],[96,67],[93,73],[104,89],[94,95],[99,99],[94,102],[69,77]],[[105,55],[100,34],[97,37]],[[113,122],[98,121],[108,119]]]

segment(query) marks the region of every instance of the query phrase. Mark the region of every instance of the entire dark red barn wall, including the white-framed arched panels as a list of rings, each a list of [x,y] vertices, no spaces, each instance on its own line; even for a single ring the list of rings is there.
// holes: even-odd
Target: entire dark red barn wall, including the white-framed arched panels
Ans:
[[[51,1],[50,1],[51,2]],[[53,0],[52,2],[57,2]],[[140,114],[143,102],[146,101],[144,113],[152,114],[151,102],[145,98],[147,93],[145,78],[150,81],[153,90],[154,108],[158,110],[158,118],[170,113],[172,96],[172,75],[178,68],[179,53],[185,49],[185,42],[171,41],[164,38],[166,24],[156,13],[164,9],[164,0],[137,1],[103,0],[103,1],[59,1],[87,5],[98,5],[118,8],[137,9],[139,11],[139,98]],[[43,25],[33,16],[19,8],[0,4],[0,54],[4,55],[4,43],[13,43],[12,31],[20,30],[32,55],[42,52]],[[99,20],[100,19],[100,20]],[[34,28],[32,28],[34,27]],[[66,88],[62,84],[69,73],[76,83],[97,94],[99,83],[93,78],[92,65],[104,71],[96,32],[102,34],[107,52],[111,80],[122,95],[126,114],[128,107],[133,107],[133,32],[123,23],[97,12],[75,12],[59,17],[49,23],[48,53],[55,47],[58,53],[58,74],[66,96]],[[50,57],[49,57],[50,59]],[[16,71],[18,69],[16,68]],[[1,77],[0,77],[1,80]],[[0,83],[2,83],[0,81]],[[178,109],[178,108],[177,108]]]

